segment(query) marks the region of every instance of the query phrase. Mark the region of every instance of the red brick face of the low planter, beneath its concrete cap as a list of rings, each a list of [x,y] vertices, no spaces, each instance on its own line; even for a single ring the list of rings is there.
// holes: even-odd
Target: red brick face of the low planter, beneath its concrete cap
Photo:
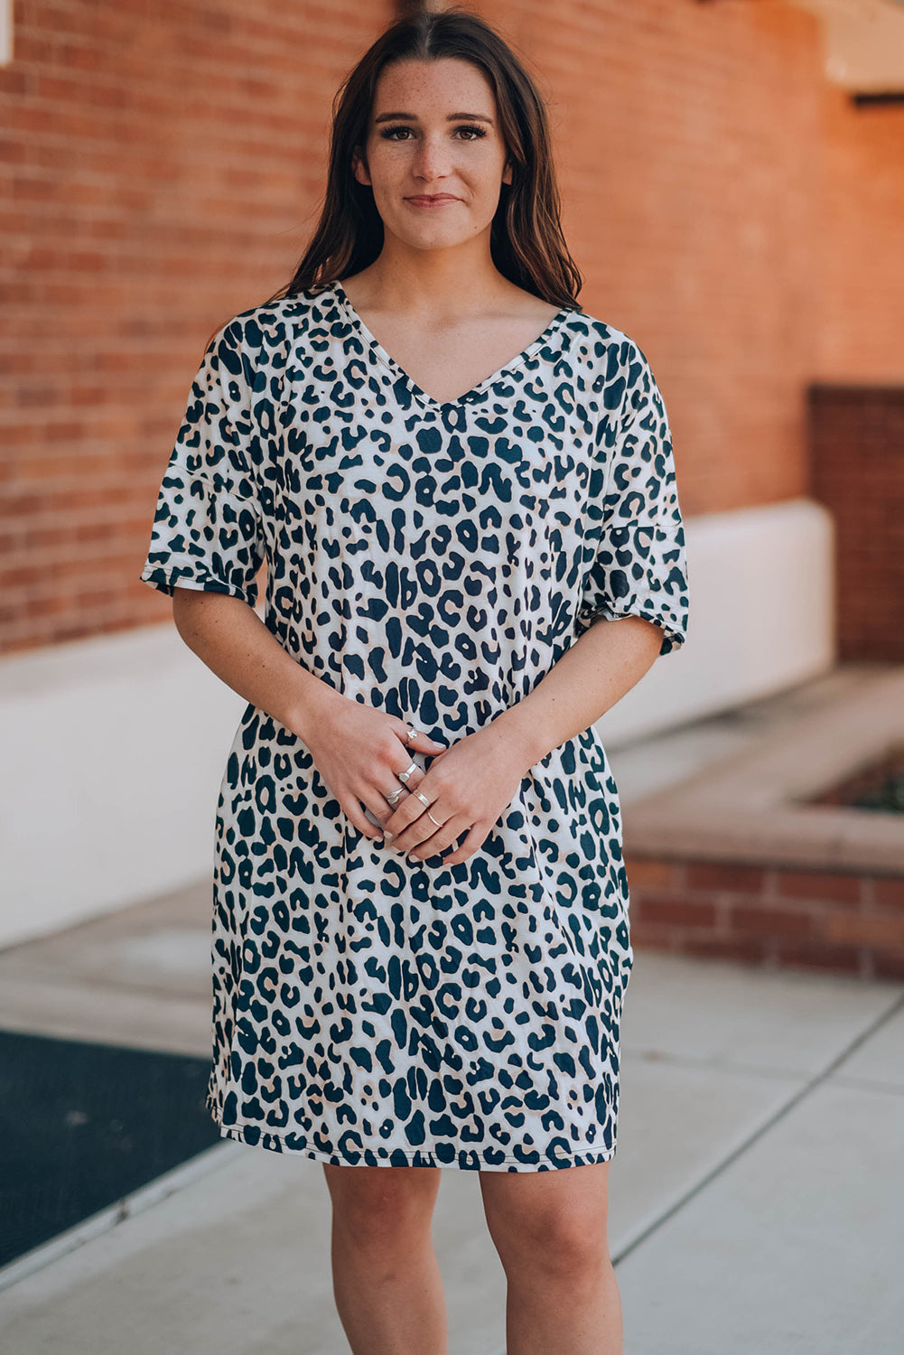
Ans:
[[[904,978],[904,878],[626,858],[637,950]]]

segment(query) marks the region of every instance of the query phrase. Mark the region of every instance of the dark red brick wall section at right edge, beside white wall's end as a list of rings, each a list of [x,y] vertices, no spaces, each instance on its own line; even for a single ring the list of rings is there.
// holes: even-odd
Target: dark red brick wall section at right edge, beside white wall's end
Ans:
[[[839,657],[904,663],[904,383],[813,386],[810,466],[835,520]]]

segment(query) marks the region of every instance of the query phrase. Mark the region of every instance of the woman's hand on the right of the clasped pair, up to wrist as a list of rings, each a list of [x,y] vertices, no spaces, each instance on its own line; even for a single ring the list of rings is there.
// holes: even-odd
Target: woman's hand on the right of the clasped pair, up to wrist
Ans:
[[[443,864],[466,860],[511,805],[531,766],[527,740],[514,725],[496,720],[466,734],[434,757],[416,785],[413,776],[408,782],[427,797],[430,813],[442,828],[427,814],[427,805],[412,794],[384,822],[386,843],[417,860],[428,860],[466,832],[465,841],[443,858]]]

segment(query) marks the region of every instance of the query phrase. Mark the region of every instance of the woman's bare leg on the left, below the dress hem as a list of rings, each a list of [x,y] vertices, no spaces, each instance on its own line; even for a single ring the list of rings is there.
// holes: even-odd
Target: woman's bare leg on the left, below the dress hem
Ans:
[[[431,1240],[438,1167],[333,1167],[332,1274],[352,1355],[446,1355]]]

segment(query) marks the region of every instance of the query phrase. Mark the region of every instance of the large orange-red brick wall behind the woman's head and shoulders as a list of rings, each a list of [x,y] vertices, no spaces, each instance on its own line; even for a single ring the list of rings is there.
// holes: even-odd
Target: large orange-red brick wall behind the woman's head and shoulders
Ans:
[[[901,110],[827,85],[782,0],[474,7],[552,99],[581,301],[653,363],[684,512],[808,492],[806,383],[904,378]],[[392,8],[16,5],[0,648],[168,615],[137,573],[201,348],[290,275]]]

